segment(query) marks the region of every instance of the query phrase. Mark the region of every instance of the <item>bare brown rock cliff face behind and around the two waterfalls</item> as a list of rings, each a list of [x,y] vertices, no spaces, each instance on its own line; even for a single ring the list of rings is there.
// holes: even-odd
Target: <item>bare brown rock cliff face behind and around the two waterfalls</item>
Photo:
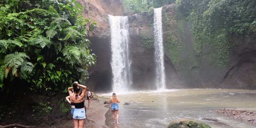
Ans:
[[[111,91],[111,36],[108,14],[123,16],[121,0],[88,0],[79,1],[84,6],[84,16],[91,17],[98,23],[98,27],[89,33],[92,42],[91,49],[97,56],[96,66],[89,69],[89,81],[87,84],[93,91]],[[175,5],[163,7],[169,16],[174,15]],[[132,76],[134,90],[155,89],[155,61],[154,48],[145,48],[141,35],[145,32],[153,35],[153,15],[147,12],[128,16],[130,34],[130,55],[132,58]],[[189,52],[193,52],[193,36],[191,22],[170,21],[171,29],[178,33],[182,49],[179,52],[184,60],[182,64],[173,63],[164,42],[165,75],[168,89],[180,88],[230,88],[230,89],[255,89],[256,77],[256,46],[255,38],[244,41],[236,47],[231,55],[230,64],[225,68],[216,67],[209,59],[202,58],[200,66],[192,66]],[[177,26],[179,24],[179,26]],[[167,33],[164,28],[164,37]],[[170,28],[168,28],[170,29]],[[154,36],[152,36],[154,37]],[[166,38],[166,37],[165,37]],[[203,55],[209,54],[205,48]]]

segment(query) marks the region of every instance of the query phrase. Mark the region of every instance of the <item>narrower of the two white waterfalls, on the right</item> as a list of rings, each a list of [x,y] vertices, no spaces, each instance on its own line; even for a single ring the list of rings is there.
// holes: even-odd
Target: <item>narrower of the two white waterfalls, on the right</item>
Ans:
[[[154,37],[155,37],[155,63],[156,86],[158,90],[165,89],[164,52],[162,34],[162,7],[154,9]]]

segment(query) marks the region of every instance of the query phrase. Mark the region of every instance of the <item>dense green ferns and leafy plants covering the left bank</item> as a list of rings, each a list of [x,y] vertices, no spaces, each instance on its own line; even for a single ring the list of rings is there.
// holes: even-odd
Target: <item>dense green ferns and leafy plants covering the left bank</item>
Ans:
[[[0,3],[0,87],[14,81],[31,90],[61,90],[96,62],[88,49],[94,21],[75,0],[3,0]]]

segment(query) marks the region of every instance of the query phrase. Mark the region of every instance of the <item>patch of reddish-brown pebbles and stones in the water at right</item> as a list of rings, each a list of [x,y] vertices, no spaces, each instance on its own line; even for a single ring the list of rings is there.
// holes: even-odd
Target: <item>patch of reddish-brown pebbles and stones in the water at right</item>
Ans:
[[[250,123],[256,124],[256,116],[253,111],[245,111],[245,110],[235,110],[235,109],[220,109],[217,111],[218,113],[230,116],[235,119],[241,119],[243,121],[249,121]]]

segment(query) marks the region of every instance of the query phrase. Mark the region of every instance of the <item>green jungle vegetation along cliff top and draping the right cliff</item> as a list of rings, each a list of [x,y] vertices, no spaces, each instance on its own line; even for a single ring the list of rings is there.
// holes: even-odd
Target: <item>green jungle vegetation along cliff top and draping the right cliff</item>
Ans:
[[[192,22],[193,52],[189,56],[193,66],[197,67],[203,57],[218,67],[227,66],[234,47],[242,41],[250,43],[256,37],[255,0],[123,0],[125,9],[134,13],[148,11],[151,16],[153,8],[172,3],[175,3],[175,16],[163,10],[163,22],[167,33],[165,43],[174,62],[183,63],[181,58],[177,58],[182,54],[182,45],[177,32],[168,28],[171,19],[175,19],[177,28],[181,27],[181,21]],[[205,48],[211,54],[204,56]]]

